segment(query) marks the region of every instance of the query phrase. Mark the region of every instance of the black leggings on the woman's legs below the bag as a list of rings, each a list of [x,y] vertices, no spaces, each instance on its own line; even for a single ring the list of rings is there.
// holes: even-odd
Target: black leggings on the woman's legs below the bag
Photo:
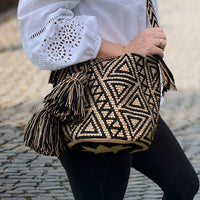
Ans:
[[[163,199],[192,200],[199,188],[193,167],[161,118],[147,151],[93,155],[67,150],[59,159],[75,200],[122,200],[131,166],[160,186]]]

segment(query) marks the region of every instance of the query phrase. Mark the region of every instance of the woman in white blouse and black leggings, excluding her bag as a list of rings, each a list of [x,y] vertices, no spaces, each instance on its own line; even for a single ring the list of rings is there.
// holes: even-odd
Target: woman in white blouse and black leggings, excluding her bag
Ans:
[[[153,5],[157,12],[155,0]],[[163,57],[166,46],[163,30],[150,28],[145,0],[20,0],[18,18],[23,47],[39,69],[129,52]],[[91,155],[66,150],[59,159],[76,200],[122,200],[131,166],[161,187],[163,199],[192,200],[199,187],[161,118],[147,151]]]

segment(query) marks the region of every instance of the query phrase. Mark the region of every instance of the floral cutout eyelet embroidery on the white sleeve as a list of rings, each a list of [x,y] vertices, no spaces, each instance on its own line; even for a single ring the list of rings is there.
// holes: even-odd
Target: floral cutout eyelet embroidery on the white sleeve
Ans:
[[[84,27],[76,18],[70,21],[56,19],[51,23],[54,33],[50,36],[46,34],[41,48],[39,48],[38,56],[42,59],[45,55],[50,63],[58,62],[61,65],[67,65],[82,42],[81,35]],[[31,39],[37,35],[32,35]]]

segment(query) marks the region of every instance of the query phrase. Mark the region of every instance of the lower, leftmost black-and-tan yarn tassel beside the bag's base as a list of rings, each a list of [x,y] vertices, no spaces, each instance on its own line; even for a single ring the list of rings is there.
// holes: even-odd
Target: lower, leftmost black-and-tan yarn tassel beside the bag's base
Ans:
[[[34,113],[26,128],[24,143],[39,154],[59,156],[66,149],[59,120],[46,109]]]

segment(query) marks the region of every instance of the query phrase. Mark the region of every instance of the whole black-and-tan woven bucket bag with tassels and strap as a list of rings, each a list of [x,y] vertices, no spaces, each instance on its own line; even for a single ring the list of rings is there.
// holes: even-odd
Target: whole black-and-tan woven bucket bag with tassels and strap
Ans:
[[[157,27],[151,0],[147,9]],[[144,151],[157,129],[163,92],[175,90],[159,56],[130,53],[52,71],[52,91],[35,112],[24,141],[36,152],[59,156],[66,148],[98,153]]]

